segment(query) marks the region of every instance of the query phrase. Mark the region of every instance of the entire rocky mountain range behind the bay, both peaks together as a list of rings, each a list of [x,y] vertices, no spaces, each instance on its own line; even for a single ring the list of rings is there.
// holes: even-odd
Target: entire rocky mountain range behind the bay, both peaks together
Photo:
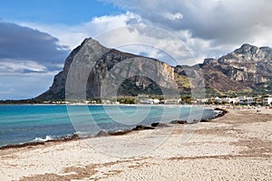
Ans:
[[[102,46],[85,39],[66,58],[63,71],[37,100],[94,99],[139,94],[174,95],[203,90],[207,95],[272,93],[272,49],[243,44],[219,59],[194,66],[165,62]]]

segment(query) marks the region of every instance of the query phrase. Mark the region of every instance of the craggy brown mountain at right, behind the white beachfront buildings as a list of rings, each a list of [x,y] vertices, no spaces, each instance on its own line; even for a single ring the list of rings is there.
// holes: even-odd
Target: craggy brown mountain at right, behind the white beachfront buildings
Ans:
[[[177,66],[175,72],[201,71],[207,93],[272,93],[272,49],[243,44],[234,52],[209,58],[197,66]],[[189,78],[192,76],[186,74]]]

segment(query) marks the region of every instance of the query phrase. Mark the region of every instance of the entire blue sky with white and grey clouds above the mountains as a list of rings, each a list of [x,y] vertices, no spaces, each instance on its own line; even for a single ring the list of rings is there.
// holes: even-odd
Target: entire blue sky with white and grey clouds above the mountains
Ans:
[[[87,37],[171,65],[242,43],[272,47],[271,9],[270,0],[0,0],[0,100],[48,90]]]

